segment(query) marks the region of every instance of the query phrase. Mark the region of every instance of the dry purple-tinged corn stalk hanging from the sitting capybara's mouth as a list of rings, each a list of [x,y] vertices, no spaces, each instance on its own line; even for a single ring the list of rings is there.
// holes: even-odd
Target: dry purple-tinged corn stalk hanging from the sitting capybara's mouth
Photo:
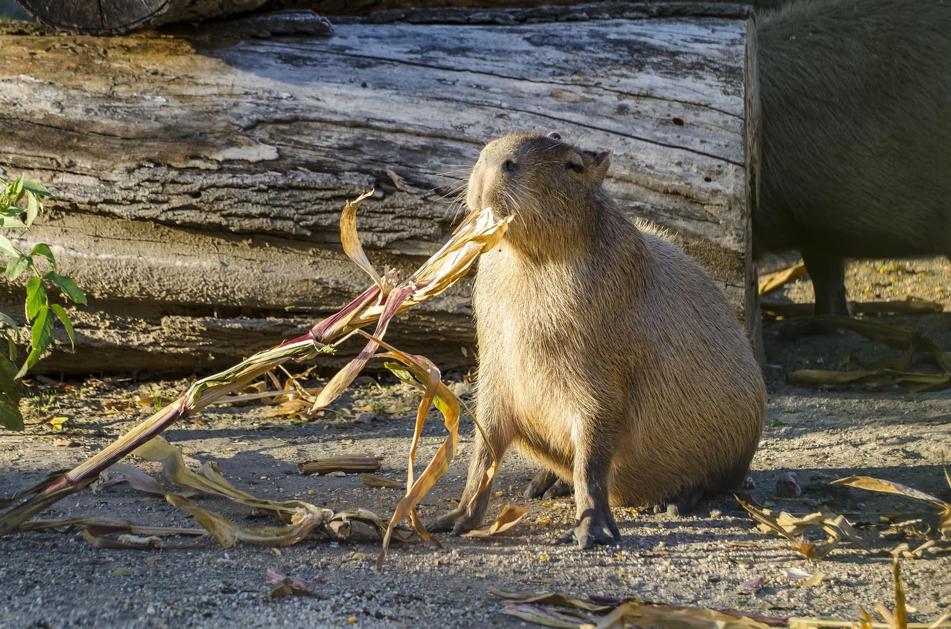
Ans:
[[[341,370],[328,383],[324,391],[320,392],[318,402],[322,406],[326,406],[353,381],[360,369],[373,357],[373,353],[378,348],[378,339],[382,334],[385,334],[393,316],[421,301],[438,295],[454,284],[459,277],[464,276],[472,268],[476,257],[495,246],[502,238],[513,218],[509,216],[505,219],[496,220],[489,208],[471,214],[456,229],[453,238],[450,238],[413,276],[397,284],[398,274],[394,272],[387,274],[385,277],[379,276],[359,245],[355,217],[359,201],[367,196],[363,195],[357,200],[348,202],[344,207],[340,219],[340,237],[344,251],[373,278],[374,286],[368,288],[344,306],[337,314],[320,321],[307,334],[302,334],[269,350],[256,353],[231,369],[196,381],[173,403],[153,414],[86,462],[69,470],[48,486],[34,486],[30,488],[29,493],[20,494],[18,498],[27,495],[31,495],[31,497],[23,502],[17,500],[10,505],[10,509],[0,515],[0,535],[10,533],[49,505],[53,505],[68,495],[88,486],[104,469],[118,462],[133,449],[145,445],[176,421],[204,409],[204,407],[213,404],[230,392],[243,389],[263,373],[274,369],[290,358],[301,360],[312,358],[319,353],[334,353],[337,346],[332,341],[340,342],[340,339],[345,338],[347,334],[378,322],[376,331],[378,335],[371,337],[363,352]],[[399,354],[392,349],[390,355],[400,360],[408,359],[406,354]],[[425,363],[413,362],[417,371],[414,375],[418,373],[423,380],[428,381],[430,372],[435,367],[424,358],[416,356],[414,358],[425,361]],[[423,367],[423,364],[428,365],[428,369]],[[441,395],[437,395],[437,407],[443,410],[443,407],[448,405],[451,408],[455,404],[455,424],[457,426],[458,402],[455,395],[450,393],[452,396],[452,400],[450,400],[445,395],[445,392],[448,391],[445,390],[445,385],[440,382],[439,388]],[[319,408],[322,408],[322,406]],[[445,414],[445,410],[443,412]],[[447,428],[450,428],[451,423],[447,416]],[[451,441],[452,444],[455,444],[455,429],[451,429],[451,432]],[[449,437],[447,437],[448,441],[450,441]],[[448,456],[443,452],[445,448],[446,445],[444,444],[443,448],[440,448],[440,454],[445,456],[442,459],[442,464],[448,466],[448,461],[452,458],[452,447],[448,450]],[[433,467],[434,464],[430,464],[430,467]],[[415,505],[429,486],[432,486],[432,482],[435,482],[435,478],[444,471],[441,465],[439,467],[440,470],[435,474],[435,477],[433,474],[427,473],[431,472],[430,468],[427,467],[426,472],[423,473],[416,484],[412,482],[408,484],[408,487],[415,489],[415,491],[412,491],[414,494],[411,500],[412,505],[409,506],[408,512],[403,508],[406,506],[404,503],[407,502],[407,499],[410,499],[411,491],[408,489],[407,499],[400,503],[398,513],[394,514],[394,520],[391,521],[388,527],[384,553],[393,533],[394,525],[398,524],[403,518],[410,517],[414,527],[417,530],[424,531],[417,522]],[[425,485],[425,487],[422,487],[420,482],[424,478],[426,483],[422,484]],[[421,493],[419,493],[420,490]],[[398,514],[401,515],[397,517]],[[428,534],[424,534],[423,537],[432,539]]]

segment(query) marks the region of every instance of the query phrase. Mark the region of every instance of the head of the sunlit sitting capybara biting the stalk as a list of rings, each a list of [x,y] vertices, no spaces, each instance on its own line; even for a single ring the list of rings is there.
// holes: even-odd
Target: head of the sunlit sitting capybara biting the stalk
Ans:
[[[507,238],[518,248],[545,250],[589,232],[611,150],[581,150],[561,136],[519,133],[488,143],[469,178],[471,211],[491,207],[515,215]]]

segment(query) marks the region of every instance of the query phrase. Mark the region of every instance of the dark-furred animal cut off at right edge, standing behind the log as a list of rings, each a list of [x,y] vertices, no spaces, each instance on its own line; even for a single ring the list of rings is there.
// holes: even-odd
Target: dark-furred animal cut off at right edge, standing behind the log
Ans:
[[[951,2],[799,0],[757,36],[759,251],[799,250],[836,315],[844,258],[951,256]]]

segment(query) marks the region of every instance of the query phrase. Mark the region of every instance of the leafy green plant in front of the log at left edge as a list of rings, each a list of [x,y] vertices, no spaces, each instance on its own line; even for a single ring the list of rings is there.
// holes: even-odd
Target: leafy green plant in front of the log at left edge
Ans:
[[[43,214],[43,199],[52,195],[41,183],[26,181],[20,177],[13,181],[0,179],[0,228],[3,230],[29,230],[30,225]],[[72,277],[61,276],[56,258],[47,244],[37,244],[29,254],[20,251],[10,238],[0,232],[0,255],[8,257],[3,273],[16,280],[24,273],[32,272],[27,280],[25,311],[29,332],[29,354],[23,364],[16,366],[16,343],[20,329],[10,315],[0,313],[0,337],[7,339],[8,352],[0,352],[0,426],[5,429],[22,430],[23,415],[20,414],[20,398],[23,396],[21,378],[47,351],[53,341],[53,324],[58,318],[73,342],[72,321],[60,304],[50,303],[48,287],[56,286],[67,299],[86,304],[86,295],[76,286]],[[37,266],[49,267],[44,271]]]

